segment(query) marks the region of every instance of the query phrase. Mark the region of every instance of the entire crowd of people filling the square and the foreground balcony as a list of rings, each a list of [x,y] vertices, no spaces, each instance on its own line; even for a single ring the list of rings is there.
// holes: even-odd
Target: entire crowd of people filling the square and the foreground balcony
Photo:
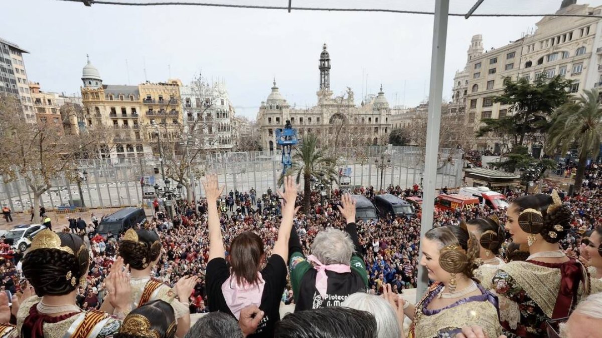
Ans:
[[[602,319],[602,166],[573,197],[550,187],[507,192],[507,210],[437,210],[424,238],[419,218],[356,223],[353,198],[337,189],[312,192],[305,213],[292,179],[261,195],[223,194],[211,175],[204,184],[205,198],[173,219],[157,201],[127,232],[95,235],[92,215],[2,255],[0,337],[530,338],[571,316],[560,326],[573,338]],[[418,268],[432,284],[410,304],[399,293],[417,286]],[[280,318],[283,303],[295,313]],[[190,328],[190,314],[205,312]]]

